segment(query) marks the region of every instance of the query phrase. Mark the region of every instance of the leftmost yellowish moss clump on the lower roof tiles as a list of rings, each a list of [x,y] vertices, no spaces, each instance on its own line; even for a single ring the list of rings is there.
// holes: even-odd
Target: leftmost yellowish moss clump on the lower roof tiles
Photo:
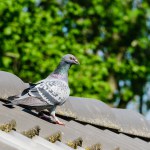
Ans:
[[[1,124],[0,130],[5,131],[5,132],[10,132],[11,130],[16,130],[16,121],[11,120],[8,123]]]

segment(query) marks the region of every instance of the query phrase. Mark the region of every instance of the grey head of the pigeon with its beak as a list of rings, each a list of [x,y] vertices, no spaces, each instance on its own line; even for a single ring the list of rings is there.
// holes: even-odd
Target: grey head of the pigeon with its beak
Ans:
[[[75,56],[73,56],[72,54],[67,54],[65,56],[63,56],[62,61],[68,63],[68,64],[75,64],[75,65],[79,65],[79,61],[77,60],[77,58]]]

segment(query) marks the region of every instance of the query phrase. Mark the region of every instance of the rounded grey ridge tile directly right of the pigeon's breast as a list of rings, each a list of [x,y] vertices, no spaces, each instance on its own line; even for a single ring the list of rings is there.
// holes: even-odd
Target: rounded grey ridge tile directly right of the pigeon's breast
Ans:
[[[109,106],[105,103],[88,98],[69,97],[62,106],[62,111],[72,112],[76,120],[118,129],[117,120]],[[68,113],[69,114],[69,113]]]

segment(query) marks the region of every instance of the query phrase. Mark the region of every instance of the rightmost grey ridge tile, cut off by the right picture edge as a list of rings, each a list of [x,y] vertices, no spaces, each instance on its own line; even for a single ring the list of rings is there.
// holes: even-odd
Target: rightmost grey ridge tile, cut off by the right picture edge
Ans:
[[[115,114],[119,132],[150,138],[150,126],[141,114],[127,109],[112,108]]]

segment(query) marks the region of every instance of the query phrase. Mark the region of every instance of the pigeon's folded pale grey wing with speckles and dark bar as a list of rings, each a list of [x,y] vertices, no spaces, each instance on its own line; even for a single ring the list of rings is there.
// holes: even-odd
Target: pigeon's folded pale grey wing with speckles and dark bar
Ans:
[[[60,105],[70,94],[68,84],[61,80],[45,80],[29,90],[30,96],[41,99],[49,105]]]

